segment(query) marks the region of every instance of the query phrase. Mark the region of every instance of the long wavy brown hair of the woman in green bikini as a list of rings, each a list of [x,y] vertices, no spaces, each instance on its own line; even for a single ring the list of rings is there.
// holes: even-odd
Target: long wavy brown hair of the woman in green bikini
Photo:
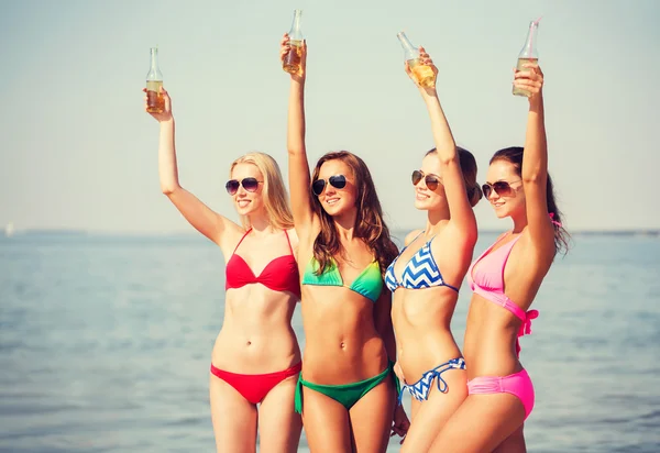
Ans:
[[[311,180],[319,177],[321,165],[328,161],[341,161],[346,164],[353,173],[356,187],[358,217],[355,218],[354,237],[359,237],[369,246],[372,254],[378,261],[381,273],[398,255],[398,250],[389,237],[389,229],[383,220],[383,210],[374,181],[369,167],[360,157],[348,151],[331,152],[323,155],[314,169]],[[311,196],[311,208],[321,222],[321,231],[314,242],[314,257],[319,263],[318,275],[331,265],[333,256],[341,255],[343,250],[337,232],[332,216],[330,216],[319,201],[318,197]]]

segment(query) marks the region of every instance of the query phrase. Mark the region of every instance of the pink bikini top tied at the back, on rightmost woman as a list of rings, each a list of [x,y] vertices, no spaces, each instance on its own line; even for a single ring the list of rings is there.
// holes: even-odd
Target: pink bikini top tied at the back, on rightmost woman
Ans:
[[[508,236],[504,235],[502,239]],[[504,268],[506,262],[512,253],[512,248],[516,242],[520,239],[518,235],[516,239],[507,242],[495,252],[491,253],[493,247],[501,241],[495,241],[479,258],[472,262],[470,269],[468,270],[468,283],[474,294],[480,295],[486,300],[493,303],[497,303],[505,310],[510,311],[522,321],[518,336],[522,336],[531,333],[531,320],[538,318],[538,310],[522,311],[512,299],[504,294]],[[479,263],[476,269],[474,267]],[[516,354],[520,354],[520,344],[516,341]]]

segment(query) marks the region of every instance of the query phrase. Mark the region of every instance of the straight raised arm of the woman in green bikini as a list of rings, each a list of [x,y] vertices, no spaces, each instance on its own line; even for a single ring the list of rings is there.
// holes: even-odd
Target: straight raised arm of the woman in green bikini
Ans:
[[[289,53],[289,37],[284,35],[279,43],[279,57],[284,60]],[[314,211],[311,209],[311,192],[309,164],[307,162],[307,151],[305,148],[305,79],[307,43],[302,43],[300,49],[300,70],[298,74],[292,74],[292,85],[289,91],[288,104],[288,124],[287,124],[287,148],[289,157],[289,192],[292,195],[292,210],[294,213],[294,224],[300,239],[309,237],[314,221]]]

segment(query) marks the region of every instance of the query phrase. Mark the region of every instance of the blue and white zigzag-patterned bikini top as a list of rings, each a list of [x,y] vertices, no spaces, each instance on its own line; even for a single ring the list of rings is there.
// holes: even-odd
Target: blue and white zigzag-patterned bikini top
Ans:
[[[419,233],[413,240],[413,242],[415,242],[420,234],[422,233]],[[433,259],[433,254],[431,253],[431,241],[433,241],[433,239],[436,239],[436,236],[428,240],[427,243],[424,244],[415,255],[413,255],[410,261],[408,261],[406,267],[404,267],[400,281],[396,280],[396,276],[394,275],[394,266],[399,256],[402,256],[402,254],[408,247],[404,247],[402,253],[399,253],[399,256],[397,256],[387,267],[387,272],[385,273],[385,285],[387,285],[387,288],[392,292],[399,287],[406,289],[422,289],[432,288],[436,286],[447,286],[448,288],[459,292],[459,288],[444,283],[442,279],[442,274],[440,274],[440,269],[438,268],[436,259]]]

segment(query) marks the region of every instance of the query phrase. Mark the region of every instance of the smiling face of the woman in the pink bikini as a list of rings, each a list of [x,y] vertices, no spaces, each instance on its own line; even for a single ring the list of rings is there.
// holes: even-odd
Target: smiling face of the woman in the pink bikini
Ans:
[[[502,194],[498,194],[496,189],[491,189],[487,199],[495,209],[495,214],[503,219],[525,211],[525,191],[516,166],[504,159],[494,161],[488,166],[486,183],[493,185],[497,181],[508,183],[510,189],[502,190]]]

